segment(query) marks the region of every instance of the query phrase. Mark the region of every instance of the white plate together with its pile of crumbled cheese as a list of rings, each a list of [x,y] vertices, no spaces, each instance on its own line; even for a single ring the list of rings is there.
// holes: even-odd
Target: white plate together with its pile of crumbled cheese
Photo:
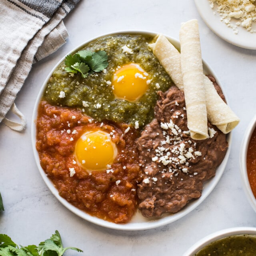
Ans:
[[[194,0],[208,27],[225,41],[256,49],[256,2],[254,0]]]

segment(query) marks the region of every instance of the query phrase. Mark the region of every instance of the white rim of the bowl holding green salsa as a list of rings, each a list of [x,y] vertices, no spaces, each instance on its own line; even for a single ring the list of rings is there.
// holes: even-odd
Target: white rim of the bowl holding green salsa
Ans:
[[[224,230],[220,230],[217,232],[214,232],[198,242],[194,244],[192,247],[190,247],[183,256],[194,256],[199,250],[204,248],[204,246],[210,244],[211,242],[214,242],[218,239],[233,236],[233,235],[242,235],[242,234],[249,234],[249,235],[256,235],[256,228],[251,227],[236,227],[236,228],[228,228]]]

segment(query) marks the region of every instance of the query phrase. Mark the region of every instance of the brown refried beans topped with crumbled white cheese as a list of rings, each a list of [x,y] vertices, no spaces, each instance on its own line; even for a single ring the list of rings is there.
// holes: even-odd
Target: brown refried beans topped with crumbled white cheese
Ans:
[[[217,92],[224,98],[212,76]],[[160,217],[181,210],[199,198],[203,183],[215,175],[228,143],[226,135],[208,122],[209,138],[193,140],[187,128],[184,93],[176,86],[159,92],[155,119],[137,140],[144,169],[138,184],[138,208],[144,217]]]

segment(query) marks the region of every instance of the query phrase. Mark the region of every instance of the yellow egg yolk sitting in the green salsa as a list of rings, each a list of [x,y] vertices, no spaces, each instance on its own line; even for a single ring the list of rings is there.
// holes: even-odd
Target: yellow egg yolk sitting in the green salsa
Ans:
[[[113,93],[118,99],[134,102],[148,89],[148,74],[135,63],[119,68],[112,79]]]

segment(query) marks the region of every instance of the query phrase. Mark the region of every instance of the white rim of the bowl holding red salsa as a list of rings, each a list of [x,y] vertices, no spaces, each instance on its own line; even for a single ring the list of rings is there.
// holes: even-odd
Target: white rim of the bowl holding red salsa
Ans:
[[[247,167],[246,167],[247,149],[250,142],[250,138],[255,128],[256,128],[256,115],[254,116],[254,118],[252,118],[250,124],[246,129],[246,132],[244,133],[244,138],[242,140],[242,145],[240,149],[240,171],[242,175],[242,184],[244,187],[244,191],[246,193],[246,196],[252,208],[256,212],[256,198],[252,193],[252,189],[248,180]]]

